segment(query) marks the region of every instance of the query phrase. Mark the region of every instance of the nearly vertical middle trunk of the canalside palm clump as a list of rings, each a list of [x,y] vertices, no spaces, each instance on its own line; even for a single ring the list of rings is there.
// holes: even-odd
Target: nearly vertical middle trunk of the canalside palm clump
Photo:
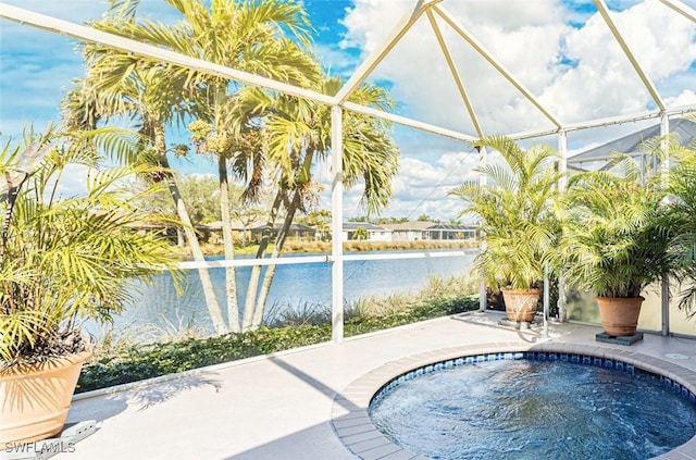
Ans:
[[[220,212],[222,215],[222,239],[225,247],[225,259],[235,258],[235,245],[232,236],[232,215],[229,212],[229,182],[227,181],[227,160],[223,154],[217,157],[217,174],[220,176]],[[237,300],[237,277],[234,266],[225,269],[225,291],[227,294],[227,322],[229,331],[241,332],[239,325],[239,302]]]

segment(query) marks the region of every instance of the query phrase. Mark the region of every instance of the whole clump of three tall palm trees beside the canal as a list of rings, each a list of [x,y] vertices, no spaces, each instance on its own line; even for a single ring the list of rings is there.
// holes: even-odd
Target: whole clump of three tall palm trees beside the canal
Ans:
[[[137,0],[112,0],[108,16],[94,26],[327,95],[335,95],[340,88],[339,79],[324,78],[321,66],[307,51],[310,26],[300,3],[277,0],[213,0],[210,4],[200,0],[164,1],[181,13],[183,21],[174,26],[138,22],[135,15]],[[236,26],[229,27],[229,24]],[[124,113],[124,109],[126,113],[133,113],[132,109],[135,109],[144,126],[158,128],[152,132],[150,141],[162,164],[166,164],[164,129],[161,129],[163,122],[181,121],[183,116],[195,120],[188,126],[196,151],[213,156],[219,166],[226,259],[234,258],[226,192],[228,176],[232,174],[245,183],[243,199],[246,203],[258,197],[264,179],[277,181],[268,220],[269,228],[275,226],[276,219],[283,221],[273,247],[273,253],[277,256],[296,212],[307,211],[309,200],[316,197],[318,184],[310,181],[310,167],[325,158],[328,151],[330,109],[130,53],[99,46],[90,46],[87,50],[88,67],[94,69],[90,73],[94,78],[85,85],[86,98],[99,96],[97,100],[112,103],[97,105],[99,110],[83,109],[83,117],[98,119],[103,112]],[[380,109],[393,105],[383,88],[371,85],[361,86],[351,100],[365,101]],[[154,103],[141,103],[144,101]],[[104,111],[103,107],[108,110]],[[388,122],[370,120],[365,115],[344,117],[344,179],[347,186],[358,181],[365,182],[363,204],[369,212],[384,207],[390,196],[389,181],[396,172],[398,150],[388,136]],[[172,181],[170,184],[175,186]],[[170,189],[175,190],[174,187]],[[176,199],[178,192],[173,196]],[[281,214],[281,210],[285,212]],[[179,216],[187,223],[185,215]],[[189,237],[189,241],[194,239],[195,235]],[[263,257],[269,241],[270,232],[266,232],[258,257]],[[198,257],[196,252],[194,254]],[[228,327],[222,324],[212,288],[204,288],[217,333],[241,328],[237,322],[239,309],[234,269],[225,270]],[[263,283],[259,284],[261,270],[252,270],[244,327],[260,324],[273,274],[274,268],[271,266],[265,271]]]

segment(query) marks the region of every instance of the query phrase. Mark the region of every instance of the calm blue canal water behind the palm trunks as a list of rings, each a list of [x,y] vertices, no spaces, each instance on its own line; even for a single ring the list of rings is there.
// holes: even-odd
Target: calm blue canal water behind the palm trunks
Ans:
[[[399,253],[403,253],[400,251]],[[215,260],[221,258],[211,258]],[[344,265],[345,302],[364,297],[387,297],[394,294],[415,294],[423,289],[431,276],[448,277],[468,274],[474,254],[420,259],[346,261]],[[265,271],[265,268],[262,268]],[[210,275],[223,312],[225,301],[225,270],[211,269]],[[251,268],[237,268],[239,306],[244,306]],[[277,265],[269,293],[266,312],[277,309],[302,309],[331,306],[331,263],[299,263]],[[86,325],[96,336],[103,331]],[[185,290],[177,295],[169,274],[157,276],[152,286],[144,286],[137,301],[123,314],[114,318],[116,332],[134,331],[142,334],[176,333],[185,328],[212,332],[198,272],[187,271]]]

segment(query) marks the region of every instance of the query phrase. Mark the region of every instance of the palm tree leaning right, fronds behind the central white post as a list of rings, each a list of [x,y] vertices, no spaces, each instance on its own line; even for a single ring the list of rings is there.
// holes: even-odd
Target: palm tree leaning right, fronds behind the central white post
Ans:
[[[339,78],[322,82],[321,92],[335,95],[341,87]],[[381,87],[362,85],[351,98],[364,105],[388,110],[394,101]],[[276,198],[268,227],[283,213],[282,225],[271,256],[278,257],[297,211],[307,212],[316,199],[318,184],[312,181],[312,167],[326,160],[331,151],[331,109],[312,101],[281,96],[259,103],[268,107],[264,129],[269,139],[269,161],[276,167]],[[399,150],[390,137],[390,124],[362,114],[348,112],[343,120],[344,183],[347,188],[364,183],[361,204],[368,214],[378,213],[391,198],[391,179],[397,173]],[[262,258],[270,243],[268,232],[259,246]],[[261,324],[275,266],[268,266],[259,287],[260,266],[251,271],[244,308],[244,327]]]

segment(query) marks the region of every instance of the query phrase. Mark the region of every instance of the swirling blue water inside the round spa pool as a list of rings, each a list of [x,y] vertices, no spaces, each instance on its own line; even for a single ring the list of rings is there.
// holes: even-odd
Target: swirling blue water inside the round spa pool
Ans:
[[[638,370],[500,360],[391,386],[374,425],[435,459],[648,459],[696,434],[694,402]]]

